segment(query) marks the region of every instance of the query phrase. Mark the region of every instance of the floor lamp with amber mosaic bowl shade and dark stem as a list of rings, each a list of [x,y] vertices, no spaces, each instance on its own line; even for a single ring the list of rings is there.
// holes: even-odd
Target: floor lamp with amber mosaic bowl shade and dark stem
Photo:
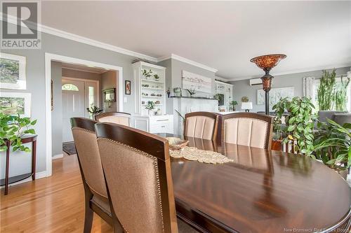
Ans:
[[[270,115],[270,87],[272,84],[273,76],[270,75],[270,70],[277,66],[277,64],[286,57],[284,54],[270,54],[259,57],[253,57],[250,62],[253,62],[260,69],[265,71],[265,75],[262,76],[263,90],[265,91],[265,114]]]

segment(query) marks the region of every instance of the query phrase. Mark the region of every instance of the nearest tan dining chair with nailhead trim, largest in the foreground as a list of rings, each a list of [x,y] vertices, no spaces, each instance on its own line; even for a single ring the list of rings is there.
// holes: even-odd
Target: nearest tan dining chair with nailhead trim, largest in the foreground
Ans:
[[[114,232],[195,232],[177,223],[168,141],[124,125],[95,125]],[[184,230],[183,230],[184,229]]]

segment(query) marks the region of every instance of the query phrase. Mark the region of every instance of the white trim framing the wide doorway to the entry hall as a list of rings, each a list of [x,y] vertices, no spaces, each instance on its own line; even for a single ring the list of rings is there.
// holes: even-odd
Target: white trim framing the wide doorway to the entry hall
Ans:
[[[67,57],[56,55],[53,53],[45,53],[45,117],[46,117],[46,176],[53,174],[52,167],[52,137],[51,137],[51,62],[66,62],[72,64],[80,64],[84,66],[94,66],[102,69],[111,69],[118,71],[116,76],[118,87],[118,111],[123,111],[123,67],[104,64],[100,62],[92,62],[75,57]]]

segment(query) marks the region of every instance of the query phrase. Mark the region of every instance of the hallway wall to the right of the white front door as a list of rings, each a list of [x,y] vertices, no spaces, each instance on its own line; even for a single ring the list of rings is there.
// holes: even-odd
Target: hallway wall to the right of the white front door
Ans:
[[[118,94],[117,94],[118,88],[117,88],[116,77],[117,77],[116,71],[107,71],[105,73],[102,73],[101,90],[116,88],[116,97],[118,98]],[[103,98],[104,97],[102,94],[101,99],[102,99],[102,108],[103,108],[104,112],[116,112],[118,100],[116,99],[116,101],[112,102],[112,103],[104,103]]]

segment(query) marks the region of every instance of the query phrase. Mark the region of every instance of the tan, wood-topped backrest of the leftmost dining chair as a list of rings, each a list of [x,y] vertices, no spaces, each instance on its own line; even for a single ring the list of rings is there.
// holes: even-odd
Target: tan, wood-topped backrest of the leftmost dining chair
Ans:
[[[100,153],[95,135],[95,120],[71,118],[72,134],[82,175],[91,192],[107,199]]]

